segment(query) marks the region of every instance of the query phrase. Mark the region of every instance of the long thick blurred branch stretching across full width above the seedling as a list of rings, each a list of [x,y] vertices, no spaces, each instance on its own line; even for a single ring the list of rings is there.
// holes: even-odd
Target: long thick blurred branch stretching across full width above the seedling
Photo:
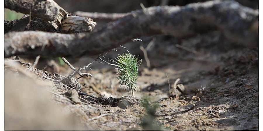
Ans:
[[[214,29],[220,29],[226,38],[235,43],[258,45],[258,29],[251,29],[258,21],[258,10],[244,7],[233,0],[207,1],[183,7],[157,6],[136,10],[132,14],[90,34],[41,31],[6,33],[5,57],[91,56],[107,52],[131,38],[160,34],[186,38]],[[41,51],[43,45],[46,48]]]

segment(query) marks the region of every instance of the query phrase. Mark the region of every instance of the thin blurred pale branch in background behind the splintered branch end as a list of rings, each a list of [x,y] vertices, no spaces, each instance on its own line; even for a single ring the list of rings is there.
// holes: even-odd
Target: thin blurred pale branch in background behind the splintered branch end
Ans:
[[[115,21],[130,13],[99,13],[99,12],[83,12],[76,11],[74,14],[82,17],[89,17],[93,20],[105,20],[105,21]]]

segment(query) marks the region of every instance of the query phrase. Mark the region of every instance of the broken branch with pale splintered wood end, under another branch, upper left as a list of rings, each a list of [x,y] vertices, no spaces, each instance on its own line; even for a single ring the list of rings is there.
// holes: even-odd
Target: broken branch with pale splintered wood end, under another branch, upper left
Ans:
[[[29,24],[29,15],[25,15],[19,20],[5,21],[5,33],[9,31],[45,31],[58,33],[91,32],[97,24],[90,18],[75,15],[70,15],[68,18],[60,21],[63,16],[59,16],[58,19],[52,22],[33,17]]]

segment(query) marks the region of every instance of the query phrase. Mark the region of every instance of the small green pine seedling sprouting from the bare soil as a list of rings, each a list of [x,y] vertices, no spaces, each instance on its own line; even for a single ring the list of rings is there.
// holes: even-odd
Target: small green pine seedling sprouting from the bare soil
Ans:
[[[110,61],[116,63],[116,68],[118,70],[117,79],[120,81],[120,86],[124,86],[124,89],[128,89],[129,94],[134,96],[134,91],[137,92],[138,86],[136,86],[136,81],[138,79],[138,68],[141,65],[141,60],[138,60],[138,56],[126,52],[124,54],[118,54],[115,60]]]

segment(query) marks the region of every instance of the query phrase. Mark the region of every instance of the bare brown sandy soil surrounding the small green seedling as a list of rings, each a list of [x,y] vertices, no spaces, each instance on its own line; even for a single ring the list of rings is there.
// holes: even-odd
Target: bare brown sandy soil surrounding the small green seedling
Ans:
[[[139,46],[146,47],[153,38],[156,40],[147,52],[151,67],[147,68]],[[120,88],[117,70],[105,63],[96,61],[91,65],[92,70],[87,72],[93,77],[78,79],[81,88],[48,79],[72,72],[67,65],[58,65],[50,59],[39,61],[38,69],[29,71],[30,75],[14,69],[13,62],[5,63],[5,130],[258,130],[258,47],[229,43],[218,31],[181,40],[170,36],[142,40],[123,45],[142,59],[137,81],[140,91],[135,97]],[[113,59],[127,49],[119,47],[103,59]],[[80,67],[94,58],[68,58],[68,61]],[[16,63],[15,67],[30,67]],[[170,96],[169,85],[170,90],[174,88],[178,78],[185,90]],[[78,96],[69,86],[90,96]],[[38,87],[42,87],[41,91]],[[142,104],[145,98],[150,107],[158,105],[149,118],[149,111]],[[33,115],[26,114],[28,110]],[[61,123],[50,124],[48,121],[54,121],[53,117]],[[150,122],[141,124],[144,119]],[[13,122],[17,126],[12,126]],[[33,123],[27,125],[30,122]]]

